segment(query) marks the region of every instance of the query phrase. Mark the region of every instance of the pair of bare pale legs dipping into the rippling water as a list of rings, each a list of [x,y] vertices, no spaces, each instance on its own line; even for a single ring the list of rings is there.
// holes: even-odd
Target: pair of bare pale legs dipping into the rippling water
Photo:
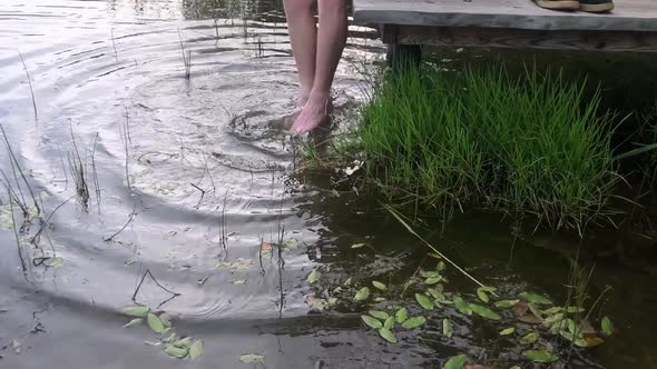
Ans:
[[[302,84],[302,96],[304,89],[307,88],[308,71],[312,70],[314,72],[307,101],[291,129],[292,132],[297,134],[308,132],[327,120],[327,110],[331,102],[331,86],[333,84],[335,69],[342,57],[347,36],[345,0],[318,0],[318,32],[315,32],[314,22],[312,24],[313,29],[311,30],[310,22],[302,22],[300,19],[291,18],[298,17],[296,14],[302,12],[301,9],[308,9],[310,12],[310,2],[311,0],[285,0],[292,49],[295,54]],[[302,7],[302,4],[307,8]],[[306,14],[305,11],[303,13]],[[313,44],[308,40],[312,36],[315,36],[314,49],[311,49],[315,56],[314,58],[308,57],[310,52],[307,49]],[[311,66],[311,61],[314,64]]]

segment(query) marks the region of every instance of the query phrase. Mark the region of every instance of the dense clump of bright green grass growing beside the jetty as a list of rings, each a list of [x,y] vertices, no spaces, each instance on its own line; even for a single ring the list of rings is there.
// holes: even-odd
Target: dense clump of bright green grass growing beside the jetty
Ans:
[[[549,72],[411,68],[375,88],[359,136],[391,197],[579,227],[605,211],[618,178],[599,103],[584,82]]]

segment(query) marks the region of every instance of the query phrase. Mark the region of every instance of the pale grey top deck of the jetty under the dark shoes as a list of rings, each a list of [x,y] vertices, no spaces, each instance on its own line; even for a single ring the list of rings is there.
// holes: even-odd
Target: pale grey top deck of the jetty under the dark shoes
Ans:
[[[356,21],[370,23],[657,32],[656,0],[616,0],[608,14],[547,10],[531,0],[353,0],[353,9]]]

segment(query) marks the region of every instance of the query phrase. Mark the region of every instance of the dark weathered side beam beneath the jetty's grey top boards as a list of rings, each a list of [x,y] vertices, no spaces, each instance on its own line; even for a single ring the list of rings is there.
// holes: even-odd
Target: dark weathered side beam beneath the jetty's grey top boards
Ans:
[[[657,33],[395,26],[386,43],[657,52]]]

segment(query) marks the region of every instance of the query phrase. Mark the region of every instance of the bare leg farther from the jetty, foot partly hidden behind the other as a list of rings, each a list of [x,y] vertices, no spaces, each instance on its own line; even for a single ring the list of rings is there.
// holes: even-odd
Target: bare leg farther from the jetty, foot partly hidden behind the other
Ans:
[[[296,62],[301,90],[300,106],[308,99],[315,79],[315,58],[317,50],[317,27],[313,17],[312,0],[285,0],[285,16],[292,53]]]

